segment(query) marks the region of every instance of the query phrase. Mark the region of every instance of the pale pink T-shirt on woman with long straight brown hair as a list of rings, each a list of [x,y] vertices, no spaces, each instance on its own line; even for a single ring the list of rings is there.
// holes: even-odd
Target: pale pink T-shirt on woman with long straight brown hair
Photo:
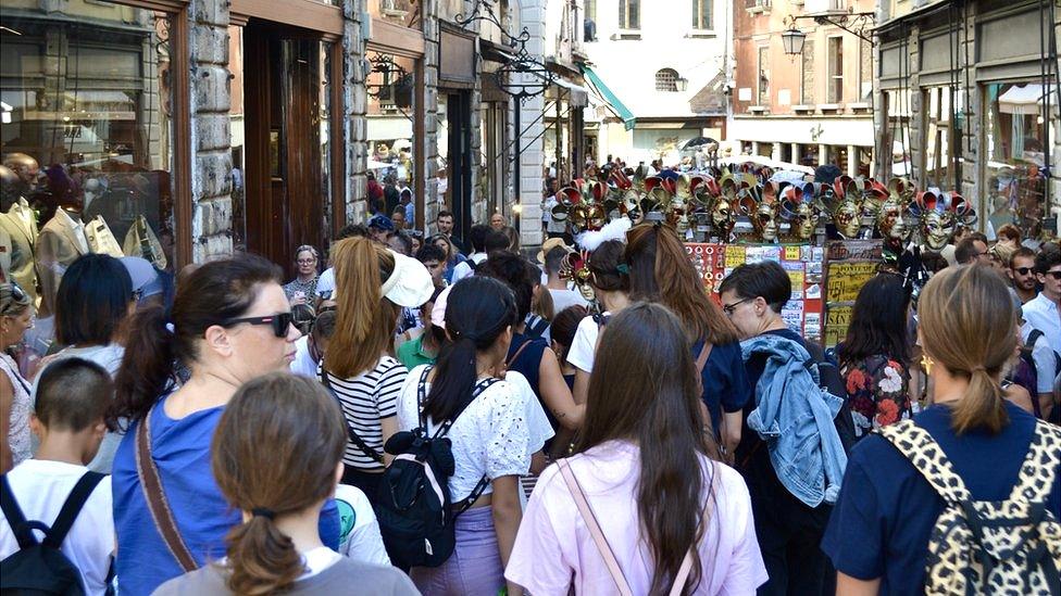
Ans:
[[[631,589],[647,594],[652,563],[639,535],[637,447],[610,441],[569,461]],[[752,594],[765,583],[766,569],[748,487],[727,466],[713,464],[712,470],[715,500],[699,545],[702,575],[696,594]],[[530,495],[504,576],[535,596],[566,595],[572,582],[577,594],[617,593],[557,466],[541,473]]]

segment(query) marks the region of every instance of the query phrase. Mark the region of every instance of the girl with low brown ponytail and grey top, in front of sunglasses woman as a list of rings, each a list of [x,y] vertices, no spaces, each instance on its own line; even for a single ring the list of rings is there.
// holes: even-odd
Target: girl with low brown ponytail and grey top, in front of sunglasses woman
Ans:
[[[345,594],[352,585],[416,594],[397,569],[348,559],[321,542],[321,508],[342,475],[340,420],[335,400],[310,379],[272,372],[239,388],[214,432],[211,468],[242,522],[225,538],[225,558],[155,594]]]

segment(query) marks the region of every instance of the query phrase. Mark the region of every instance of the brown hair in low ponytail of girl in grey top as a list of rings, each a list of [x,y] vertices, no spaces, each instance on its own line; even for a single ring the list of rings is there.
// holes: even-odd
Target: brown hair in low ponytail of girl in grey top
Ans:
[[[302,557],[273,518],[313,507],[335,490],[347,442],[340,420],[320,383],[288,372],[245,383],[225,408],[211,468],[225,499],[253,512],[226,536],[234,593],[283,591],[303,573]]]

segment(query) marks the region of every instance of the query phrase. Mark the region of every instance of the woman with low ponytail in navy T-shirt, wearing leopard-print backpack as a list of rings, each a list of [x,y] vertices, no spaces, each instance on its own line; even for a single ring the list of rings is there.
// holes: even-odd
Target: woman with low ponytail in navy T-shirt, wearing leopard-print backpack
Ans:
[[[1007,402],[999,384],[1018,341],[1019,312],[1009,292],[989,267],[948,267],[933,276],[918,301],[932,405],[912,421],[886,427],[890,432],[927,431],[974,502],[1007,500],[1027,467],[1031,443],[1043,441],[1035,417]],[[1033,468],[1037,475],[1053,474],[1046,510],[1057,515],[1061,470],[1052,455]],[[924,591],[931,534],[946,506],[924,473],[933,472],[878,433],[856,445],[822,542],[838,571],[837,594]],[[1044,561],[1050,558],[1043,556]]]

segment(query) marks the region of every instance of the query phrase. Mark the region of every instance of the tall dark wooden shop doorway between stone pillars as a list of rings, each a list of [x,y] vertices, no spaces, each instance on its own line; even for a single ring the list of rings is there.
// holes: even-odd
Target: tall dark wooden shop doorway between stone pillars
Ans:
[[[328,240],[328,45],[253,18],[242,35],[245,245],[291,276],[298,246]]]

